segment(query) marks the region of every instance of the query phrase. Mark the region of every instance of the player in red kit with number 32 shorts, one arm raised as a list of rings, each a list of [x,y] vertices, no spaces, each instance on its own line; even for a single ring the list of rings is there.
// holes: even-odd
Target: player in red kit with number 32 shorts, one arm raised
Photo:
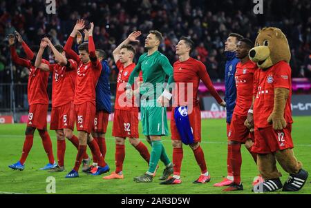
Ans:
[[[149,164],[149,151],[146,145],[140,141],[138,134],[138,107],[135,107],[134,98],[130,103],[126,103],[125,96],[122,98],[122,94],[124,94],[126,90],[126,83],[135,67],[135,63],[133,63],[135,48],[133,48],[133,45],[129,45],[129,43],[131,41],[138,41],[137,38],[140,34],[140,31],[132,32],[127,39],[113,50],[113,59],[119,70],[119,74],[117,74],[117,94],[115,96],[115,114],[113,117],[112,132],[113,136],[115,136],[116,169],[111,175],[105,176],[103,179],[124,178],[122,167],[125,158],[124,144],[126,137],[129,137],[131,145],[140,152],[142,158]],[[142,74],[140,74],[140,79],[142,79]],[[124,87],[122,87],[122,83],[124,83]],[[134,93],[138,92],[138,90],[134,90]],[[130,105],[127,106],[126,104]]]

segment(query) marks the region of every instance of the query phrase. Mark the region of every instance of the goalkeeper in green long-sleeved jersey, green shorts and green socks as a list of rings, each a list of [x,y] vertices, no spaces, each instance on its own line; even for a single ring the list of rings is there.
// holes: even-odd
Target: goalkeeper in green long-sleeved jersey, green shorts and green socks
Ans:
[[[165,76],[169,76],[168,85],[173,83],[173,67],[169,59],[158,51],[162,39],[162,34],[157,30],[149,32],[144,44],[148,52],[140,56],[127,84],[126,96],[131,98],[133,96],[131,85],[142,70],[143,83],[140,85],[142,133],[147,137],[147,141],[151,142],[152,150],[148,171],[134,178],[138,183],[152,182],[159,160],[166,166],[160,180],[167,180],[173,174],[173,163],[169,160],[161,141],[161,136],[168,136],[169,133],[165,106],[168,106],[172,96],[169,87],[165,90],[162,88]]]

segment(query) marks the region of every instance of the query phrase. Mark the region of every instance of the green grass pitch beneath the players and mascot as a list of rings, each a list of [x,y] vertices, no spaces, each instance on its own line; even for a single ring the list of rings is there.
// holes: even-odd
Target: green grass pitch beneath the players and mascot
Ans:
[[[124,160],[124,180],[103,180],[102,176],[90,176],[79,171],[79,178],[64,178],[72,169],[77,150],[73,145],[66,141],[65,167],[66,171],[58,173],[48,173],[39,170],[48,163],[44,148],[41,145],[39,134],[35,133],[34,144],[26,160],[26,168],[23,171],[14,171],[8,165],[15,163],[21,156],[23,146],[25,124],[0,125],[0,194],[23,193],[23,194],[46,194],[46,178],[55,177],[56,194],[225,194],[223,187],[213,187],[214,183],[222,180],[226,175],[227,158],[227,139],[224,119],[202,120],[202,149],[207,160],[207,167],[211,174],[211,182],[197,185],[192,182],[200,174],[200,169],[196,164],[194,154],[191,149],[184,145],[184,158],[182,160],[182,184],[180,185],[159,185],[158,177],[162,174],[163,164],[159,163],[160,169],[152,183],[135,183],[133,177],[147,171],[147,163],[141,158],[140,154],[126,141],[126,156]],[[304,169],[311,173],[311,117],[294,117],[292,126],[292,138],[294,140],[294,153],[296,158],[301,160]],[[106,162],[115,169],[115,141],[111,136],[112,123],[109,122],[106,133],[107,154]],[[140,133],[142,127],[140,123]],[[53,141],[54,156],[56,159],[56,137],[55,132],[49,131]],[[149,151],[151,147],[140,134],[141,140],[147,144]],[[171,138],[163,137],[163,143],[167,154],[171,158],[172,147]],[[88,149],[88,153],[90,150]],[[241,177],[244,191],[236,191],[229,194],[252,194],[252,180],[258,174],[256,165],[251,156],[242,147],[243,163]],[[282,182],[288,178],[288,174],[278,166],[282,172]],[[286,194],[278,191],[275,194]],[[227,193],[226,193],[227,194]],[[305,187],[294,194],[311,194],[311,183],[308,179]]]

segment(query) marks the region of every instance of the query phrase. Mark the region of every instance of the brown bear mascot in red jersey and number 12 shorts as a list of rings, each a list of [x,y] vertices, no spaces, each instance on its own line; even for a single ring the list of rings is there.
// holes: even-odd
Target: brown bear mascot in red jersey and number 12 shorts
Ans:
[[[257,63],[254,74],[252,109],[245,125],[254,128],[258,170],[264,182],[255,185],[256,192],[299,191],[308,178],[293,152],[291,110],[290,48],[285,34],[279,28],[263,28],[258,32],[255,47],[249,50],[249,58]],[[281,183],[281,173],[276,161],[290,174]]]

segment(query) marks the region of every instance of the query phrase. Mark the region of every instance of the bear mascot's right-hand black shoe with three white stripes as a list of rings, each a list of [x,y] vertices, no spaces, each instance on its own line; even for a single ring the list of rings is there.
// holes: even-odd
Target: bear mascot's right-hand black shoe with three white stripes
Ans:
[[[305,185],[307,178],[308,172],[304,169],[300,169],[298,174],[290,174],[282,191],[299,191]]]

